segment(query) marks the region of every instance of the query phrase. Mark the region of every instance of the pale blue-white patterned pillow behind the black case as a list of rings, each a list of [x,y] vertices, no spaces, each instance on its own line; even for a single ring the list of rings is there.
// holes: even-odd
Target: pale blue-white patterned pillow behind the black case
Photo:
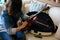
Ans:
[[[31,5],[29,7],[29,12],[39,12],[42,11],[45,7],[47,6],[47,3],[42,3],[42,2],[31,2]]]

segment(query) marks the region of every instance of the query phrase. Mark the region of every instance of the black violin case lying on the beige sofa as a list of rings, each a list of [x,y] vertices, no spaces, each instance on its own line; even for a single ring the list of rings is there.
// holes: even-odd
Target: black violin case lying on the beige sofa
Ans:
[[[27,15],[31,16],[36,14],[37,12],[29,12]],[[50,18],[48,13],[40,12],[36,15],[38,20],[34,22],[28,30],[34,30],[34,32],[52,32],[55,33],[57,30],[57,26],[54,25],[53,20]]]

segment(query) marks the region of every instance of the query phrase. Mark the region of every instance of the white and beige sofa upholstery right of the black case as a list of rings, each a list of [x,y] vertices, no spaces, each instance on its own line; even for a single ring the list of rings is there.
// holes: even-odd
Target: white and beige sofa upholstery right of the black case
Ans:
[[[49,16],[53,20],[54,24],[58,26],[55,37],[60,40],[60,7],[53,7],[49,10]]]

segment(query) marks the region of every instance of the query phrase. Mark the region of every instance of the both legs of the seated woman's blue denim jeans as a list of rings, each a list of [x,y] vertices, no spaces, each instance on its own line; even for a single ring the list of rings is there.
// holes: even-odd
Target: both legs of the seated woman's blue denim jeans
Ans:
[[[23,31],[19,31],[16,33],[17,40],[26,40],[25,33]],[[13,40],[7,32],[0,32],[0,37],[2,40]]]

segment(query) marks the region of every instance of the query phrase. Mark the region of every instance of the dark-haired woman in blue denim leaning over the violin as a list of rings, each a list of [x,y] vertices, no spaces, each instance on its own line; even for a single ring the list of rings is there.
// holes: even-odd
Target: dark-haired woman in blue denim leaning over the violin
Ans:
[[[6,29],[12,30],[12,28],[15,28],[14,31],[16,32],[15,34],[18,40],[26,40],[25,33],[22,29],[26,27],[28,22],[22,22],[22,25],[19,27],[17,25],[19,19],[25,20],[21,8],[22,0],[9,0],[6,9],[3,10],[2,16],[4,18],[4,26]]]

